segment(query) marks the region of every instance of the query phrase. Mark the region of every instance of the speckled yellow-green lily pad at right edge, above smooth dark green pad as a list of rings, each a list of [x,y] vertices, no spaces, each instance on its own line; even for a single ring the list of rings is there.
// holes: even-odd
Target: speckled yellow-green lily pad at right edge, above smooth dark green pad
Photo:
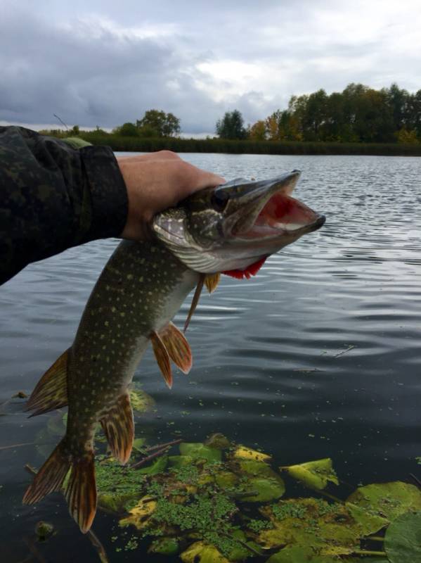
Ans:
[[[389,521],[408,510],[421,510],[420,489],[403,481],[365,485],[359,487],[346,500]]]

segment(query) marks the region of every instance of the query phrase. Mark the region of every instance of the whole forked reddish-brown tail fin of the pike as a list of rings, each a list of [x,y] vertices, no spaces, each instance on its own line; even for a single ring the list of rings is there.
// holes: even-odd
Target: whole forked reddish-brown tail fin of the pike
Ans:
[[[27,488],[22,502],[33,505],[49,493],[60,491],[70,470],[65,486],[65,498],[72,517],[82,533],[89,531],[96,513],[96,482],[93,451],[75,458],[67,448],[67,440],[58,444],[48,460],[39,469]]]

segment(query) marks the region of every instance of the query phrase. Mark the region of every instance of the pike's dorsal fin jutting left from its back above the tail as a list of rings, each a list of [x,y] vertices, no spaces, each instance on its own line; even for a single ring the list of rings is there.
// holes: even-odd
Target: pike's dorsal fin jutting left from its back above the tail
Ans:
[[[67,405],[67,359],[69,350],[47,369],[32,391],[25,410],[34,410],[31,417]]]

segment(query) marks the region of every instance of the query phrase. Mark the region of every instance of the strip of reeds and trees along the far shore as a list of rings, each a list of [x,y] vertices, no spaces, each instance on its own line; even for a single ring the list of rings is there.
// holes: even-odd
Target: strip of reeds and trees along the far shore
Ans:
[[[148,110],[142,119],[108,133],[77,125],[43,131],[56,137],[77,136],[115,151],[265,154],[377,154],[421,156],[421,89],[414,94],[391,84],[375,90],[349,84],[342,92],[292,96],[287,109],[245,125],[239,110],[216,122],[215,137],[181,138],[179,118]]]

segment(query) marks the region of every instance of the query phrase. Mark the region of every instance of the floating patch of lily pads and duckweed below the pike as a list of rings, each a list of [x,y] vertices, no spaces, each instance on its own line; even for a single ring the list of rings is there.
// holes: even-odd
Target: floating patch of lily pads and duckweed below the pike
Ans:
[[[373,483],[346,500],[325,500],[320,494],[332,496],[325,488],[339,484],[332,460],[276,472],[271,456],[221,435],[180,443],[179,455],[158,457],[141,470],[134,468],[138,455],[131,467],[98,458],[99,498],[122,529],[134,530],[130,541],[149,542],[151,553],[186,563],[257,556],[268,563],[420,559],[421,491],[410,483]],[[316,496],[285,498],[282,474]]]

